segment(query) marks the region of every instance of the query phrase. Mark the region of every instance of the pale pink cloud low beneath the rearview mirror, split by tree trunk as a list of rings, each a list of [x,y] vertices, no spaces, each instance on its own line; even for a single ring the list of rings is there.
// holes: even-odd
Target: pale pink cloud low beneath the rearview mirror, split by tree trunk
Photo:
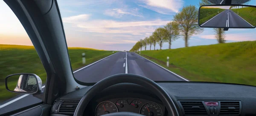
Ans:
[[[256,35],[252,33],[236,33],[236,34],[226,34],[225,40],[233,40],[233,41],[255,41]],[[199,36],[202,39],[216,39],[215,35],[203,35]]]

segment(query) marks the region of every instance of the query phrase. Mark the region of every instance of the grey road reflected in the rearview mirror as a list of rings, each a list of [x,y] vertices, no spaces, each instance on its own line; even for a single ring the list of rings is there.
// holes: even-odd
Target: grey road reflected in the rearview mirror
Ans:
[[[209,19],[207,22],[203,23],[201,26],[203,27],[242,27],[242,28],[248,28],[253,27],[250,23],[245,21],[243,18],[239,17],[238,14],[233,12],[230,9],[226,9],[225,11],[222,11],[221,13],[217,14],[212,19]]]

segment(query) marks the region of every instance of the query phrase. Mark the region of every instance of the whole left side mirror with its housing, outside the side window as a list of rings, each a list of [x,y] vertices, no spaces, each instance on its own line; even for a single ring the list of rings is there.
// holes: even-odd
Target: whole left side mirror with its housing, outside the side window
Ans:
[[[6,89],[19,94],[42,93],[42,80],[32,73],[18,73],[9,75],[5,79]]]

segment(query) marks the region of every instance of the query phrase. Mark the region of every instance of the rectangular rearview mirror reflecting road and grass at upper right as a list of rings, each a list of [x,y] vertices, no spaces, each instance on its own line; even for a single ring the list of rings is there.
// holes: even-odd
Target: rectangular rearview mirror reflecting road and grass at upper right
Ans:
[[[201,6],[198,25],[202,28],[255,28],[256,6],[227,4]]]

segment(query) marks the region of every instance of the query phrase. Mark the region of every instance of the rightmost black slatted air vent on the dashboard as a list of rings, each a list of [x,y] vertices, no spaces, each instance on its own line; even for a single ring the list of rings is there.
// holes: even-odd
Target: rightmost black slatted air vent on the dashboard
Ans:
[[[219,116],[239,116],[239,113],[240,113],[239,101],[221,102],[221,111]]]

